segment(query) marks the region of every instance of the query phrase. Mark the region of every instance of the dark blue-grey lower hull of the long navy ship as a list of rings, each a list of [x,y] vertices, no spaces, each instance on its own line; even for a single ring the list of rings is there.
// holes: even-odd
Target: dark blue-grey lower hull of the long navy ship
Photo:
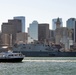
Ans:
[[[76,52],[21,51],[21,53],[26,57],[76,57]]]

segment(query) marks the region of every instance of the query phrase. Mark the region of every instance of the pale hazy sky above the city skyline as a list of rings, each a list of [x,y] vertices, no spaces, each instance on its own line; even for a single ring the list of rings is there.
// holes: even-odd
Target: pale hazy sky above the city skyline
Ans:
[[[26,27],[37,20],[51,28],[52,19],[57,17],[66,26],[68,18],[76,18],[76,0],[0,0],[0,25],[14,16],[25,16]]]

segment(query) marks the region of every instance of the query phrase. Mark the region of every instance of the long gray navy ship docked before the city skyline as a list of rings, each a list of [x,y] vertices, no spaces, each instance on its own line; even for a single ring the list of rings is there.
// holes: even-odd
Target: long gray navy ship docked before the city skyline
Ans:
[[[64,52],[60,49],[60,46],[45,44],[15,44],[13,52],[21,52],[26,57],[76,57],[76,52]]]

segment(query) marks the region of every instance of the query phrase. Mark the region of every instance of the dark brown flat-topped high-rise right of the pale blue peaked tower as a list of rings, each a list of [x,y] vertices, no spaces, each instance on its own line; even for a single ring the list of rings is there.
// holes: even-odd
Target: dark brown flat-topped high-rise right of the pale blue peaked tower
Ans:
[[[49,24],[42,23],[38,24],[38,40],[46,41],[49,39]]]

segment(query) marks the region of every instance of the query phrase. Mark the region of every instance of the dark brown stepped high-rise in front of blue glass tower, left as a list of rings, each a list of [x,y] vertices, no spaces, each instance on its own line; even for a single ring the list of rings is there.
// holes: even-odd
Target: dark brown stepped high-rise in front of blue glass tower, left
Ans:
[[[2,23],[1,25],[2,33],[12,35],[12,44],[16,41],[16,33],[22,31],[21,20],[8,20],[7,23]]]

